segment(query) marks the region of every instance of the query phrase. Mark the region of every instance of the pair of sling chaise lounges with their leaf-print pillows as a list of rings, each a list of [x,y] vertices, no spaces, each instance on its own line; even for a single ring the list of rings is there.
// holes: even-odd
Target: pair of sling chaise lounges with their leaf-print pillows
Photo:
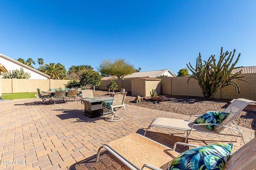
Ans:
[[[254,151],[256,138],[248,142],[234,121],[234,118],[248,104],[256,104],[256,101],[236,99],[223,112],[207,112],[204,115],[200,115],[195,121],[156,118],[148,126],[144,136],[133,133],[102,145],[98,149],[96,162],[99,161],[100,154],[104,148],[132,170],[144,170],[145,168],[152,170],[166,168],[168,170],[252,170],[256,168],[256,152]],[[210,114],[213,116],[211,121],[209,121],[209,117],[206,118]],[[222,120],[216,121],[217,117]],[[198,122],[202,120],[204,122]],[[171,149],[153,141],[145,137],[146,132],[151,127],[184,130],[186,132],[185,143],[176,142],[174,148]],[[224,129],[228,129],[230,133],[222,133]],[[194,131],[240,137],[245,145],[233,154],[231,154],[232,143],[216,143],[200,147],[190,145],[186,141]],[[175,151],[176,145],[194,148],[180,154]]]

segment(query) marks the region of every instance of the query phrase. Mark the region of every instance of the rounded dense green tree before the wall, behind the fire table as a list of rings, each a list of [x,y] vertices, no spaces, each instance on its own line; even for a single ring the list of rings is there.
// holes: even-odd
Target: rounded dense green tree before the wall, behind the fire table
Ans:
[[[80,76],[80,86],[90,89],[92,86],[95,88],[100,86],[102,76],[99,72],[94,70],[85,70]]]

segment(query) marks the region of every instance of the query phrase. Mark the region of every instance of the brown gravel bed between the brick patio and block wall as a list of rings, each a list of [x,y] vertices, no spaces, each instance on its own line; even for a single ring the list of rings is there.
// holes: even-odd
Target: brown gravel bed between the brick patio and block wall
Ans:
[[[107,91],[96,90],[94,96],[103,97],[110,95]],[[164,96],[164,100],[162,101],[154,101],[150,97],[147,97],[146,100],[137,104],[136,102],[134,102],[136,96],[132,96],[131,93],[128,92],[124,103],[185,115],[198,115],[211,110],[223,111],[228,106],[228,103],[231,101],[224,99],[205,100],[202,97],[195,96],[161,96]],[[242,111],[238,115],[238,117],[236,117],[235,121],[241,127],[256,130],[256,112],[254,111]]]

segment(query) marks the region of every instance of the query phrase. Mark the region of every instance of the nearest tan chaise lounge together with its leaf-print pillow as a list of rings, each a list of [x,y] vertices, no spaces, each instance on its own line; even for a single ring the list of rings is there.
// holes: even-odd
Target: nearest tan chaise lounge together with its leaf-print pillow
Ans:
[[[187,150],[180,154],[175,151],[176,145],[197,148]],[[194,169],[199,169],[196,168],[196,166],[206,169],[206,166],[210,164],[211,166],[224,166],[224,170],[252,170],[256,167],[256,152],[252,149],[255,146],[256,138],[252,139],[249,143],[230,156],[232,144],[218,143],[198,147],[196,145],[176,142],[174,148],[171,149],[140,134],[133,133],[102,145],[98,149],[96,162],[99,161],[100,153],[102,152],[102,149],[105,148],[131,170],[144,170],[145,168],[152,170],[166,170],[170,164],[172,164],[171,166],[173,166],[173,164],[179,166],[179,161],[181,162],[181,166],[189,167],[192,165],[194,166]],[[207,150],[207,148],[211,150]],[[203,151],[199,154],[201,150]],[[197,156],[193,156],[195,153],[197,153]],[[194,159],[195,157],[197,158]],[[204,163],[203,157],[206,159],[206,163]],[[208,159],[209,157],[211,157],[210,160]],[[199,162],[198,158],[202,158],[202,162]],[[184,161],[182,161],[182,159]],[[218,169],[218,167],[216,168]],[[191,169],[193,169],[193,167]]]

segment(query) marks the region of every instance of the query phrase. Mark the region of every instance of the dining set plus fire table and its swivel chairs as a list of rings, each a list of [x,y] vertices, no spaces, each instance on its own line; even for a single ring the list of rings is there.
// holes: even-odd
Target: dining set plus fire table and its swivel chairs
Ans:
[[[42,99],[43,102],[40,102],[38,105],[41,104],[50,104],[50,101],[54,100],[54,105],[56,104],[56,100],[61,102],[65,102],[68,98],[73,98],[74,100],[78,101],[78,96],[80,96],[81,104],[84,104],[84,115],[88,117],[98,117],[101,115],[112,114],[106,117],[106,121],[120,121],[122,118],[116,115],[116,111],[121,107],[124,107],[124,98],[127,92],[118,92],[114,94],[114,97],[101,97],[97,98],[94,97],[93,91],[91,89],[82,89],[81,93],[77,89],[55,89],[50,91],[42,91],[43,93],[48,93],[48,95],[42,95],[41,90],[38,88],[38,96]],[[44,102],[45,100],[49,99],[49,103]],[[67,100],[68,103],[68,100]]]

